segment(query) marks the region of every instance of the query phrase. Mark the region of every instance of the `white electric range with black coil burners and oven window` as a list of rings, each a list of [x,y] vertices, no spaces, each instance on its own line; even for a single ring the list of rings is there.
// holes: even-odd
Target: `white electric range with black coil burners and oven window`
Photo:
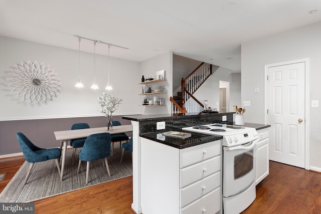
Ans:
[[[182,129],[223,137],[223,212],[240,213],[246,209],[256,197],[256,143],[259,139],[255,128],[214,123]]]

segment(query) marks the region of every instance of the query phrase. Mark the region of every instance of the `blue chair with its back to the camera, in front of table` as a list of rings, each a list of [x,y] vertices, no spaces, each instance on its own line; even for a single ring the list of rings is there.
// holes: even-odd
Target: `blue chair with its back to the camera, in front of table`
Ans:
[[[110,154],[110,134],[99,133],[91,134],[87,137],[82,150],[79,152],[79,164],[77,173],[79,173],[81,161],[87,161],[86,169],[86,184],[88,183],[89,176],[89,164],[92,160],[98,160],[104,158],[107,172],[110,177],[109,166],[107,157]]]

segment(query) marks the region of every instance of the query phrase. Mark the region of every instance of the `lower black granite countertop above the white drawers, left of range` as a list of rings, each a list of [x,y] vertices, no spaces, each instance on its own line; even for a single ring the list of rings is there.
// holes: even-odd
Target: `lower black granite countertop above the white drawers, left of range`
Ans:
[[[174,130],[175,131],[175,130]],[[176,131],[182,131],[176,130]],[[201,134],[201,133],[196,133],[196,132],[189,132],[189,131],[184,131],[184,132],[189,132],[192,134],[191,137],[188,137],[186,139],[178,139],[174,137],[167,137],[163,136],[162,133],[164,132],[152,132],[152,133],[146,133],[146,134],[140,134],[140,137],[156,141],[158,143],[163,143],[175,148],[183,149],[183,148],[188,148],[191,146],[196,146],[200,145],[203,143],[209,143],[215,140],[220,140],[223,137],[218,136],[218,135],[208,135],[208,134]],[[157,137],[158,136],[158,137]]]

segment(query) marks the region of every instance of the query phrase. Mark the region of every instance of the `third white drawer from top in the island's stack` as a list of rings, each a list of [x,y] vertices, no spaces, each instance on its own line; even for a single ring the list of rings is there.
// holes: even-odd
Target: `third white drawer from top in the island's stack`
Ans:
[[[181,189],[181,208],[221,185],[221,171]]]

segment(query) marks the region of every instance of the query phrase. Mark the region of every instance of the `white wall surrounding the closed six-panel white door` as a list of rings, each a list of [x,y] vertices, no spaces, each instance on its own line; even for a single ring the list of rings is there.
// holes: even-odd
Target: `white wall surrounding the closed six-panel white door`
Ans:
[[[242,101],[251,101],[245,122],[264,123],[264,66],[309,58],[309,103],[321,100],[321,22],[242,44]],[[254,93],[254,88],[259,93]],[[321,171],[321,114],[309,108],[310,166]]]

